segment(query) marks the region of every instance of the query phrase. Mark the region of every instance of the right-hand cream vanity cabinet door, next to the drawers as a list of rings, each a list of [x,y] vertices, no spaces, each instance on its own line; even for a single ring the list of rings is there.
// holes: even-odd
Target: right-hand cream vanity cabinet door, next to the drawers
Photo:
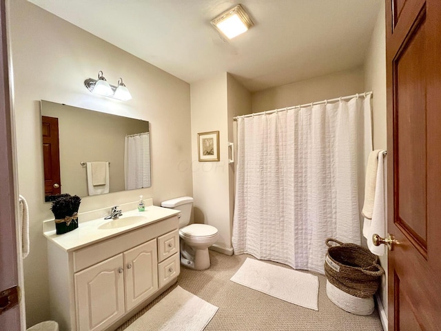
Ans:
[[[125,261],[125,308],[132,309],[158,290],[156,239],[127,250]]]

